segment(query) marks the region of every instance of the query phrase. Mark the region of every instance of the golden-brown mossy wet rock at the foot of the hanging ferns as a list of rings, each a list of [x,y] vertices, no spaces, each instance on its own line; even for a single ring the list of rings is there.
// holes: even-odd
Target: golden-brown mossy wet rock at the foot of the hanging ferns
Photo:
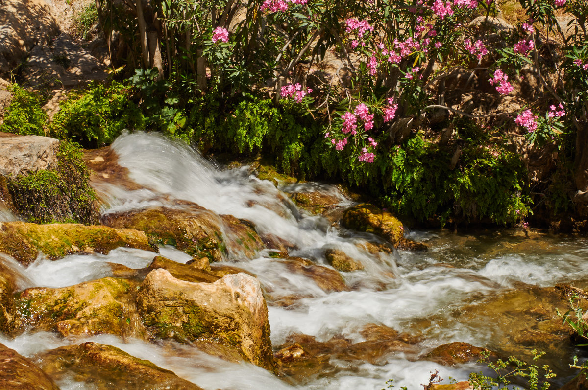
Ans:
[[[371,204],[363,203],[343,213],[345,227],[377,234],[396,248],[426,250],[424,244],[404,238],[404,226],[395,216]]]

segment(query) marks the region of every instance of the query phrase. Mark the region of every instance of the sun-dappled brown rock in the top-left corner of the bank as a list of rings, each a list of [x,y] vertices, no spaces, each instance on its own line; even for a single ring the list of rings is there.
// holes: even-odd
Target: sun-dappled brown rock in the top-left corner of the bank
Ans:
[[[59,31],[44,0],[2,0],[0,74],[12,72],[35,45],[50,43]]]

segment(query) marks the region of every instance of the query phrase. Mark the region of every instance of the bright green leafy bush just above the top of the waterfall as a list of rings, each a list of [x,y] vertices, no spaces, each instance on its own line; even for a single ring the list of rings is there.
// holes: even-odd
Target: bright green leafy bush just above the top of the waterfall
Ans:
[[[50,133],[98,147],[112,143],[123,130],[145,129],[145,118],[132,97],[132,88],[118,82],[74,90],[55,114]]]

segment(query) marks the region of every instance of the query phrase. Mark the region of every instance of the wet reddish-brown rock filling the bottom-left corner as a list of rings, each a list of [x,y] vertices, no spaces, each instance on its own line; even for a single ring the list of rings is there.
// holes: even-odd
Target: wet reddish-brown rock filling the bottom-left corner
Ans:
[[[3,390],[59,390],[29,359],[0,344],[0,388]]]

